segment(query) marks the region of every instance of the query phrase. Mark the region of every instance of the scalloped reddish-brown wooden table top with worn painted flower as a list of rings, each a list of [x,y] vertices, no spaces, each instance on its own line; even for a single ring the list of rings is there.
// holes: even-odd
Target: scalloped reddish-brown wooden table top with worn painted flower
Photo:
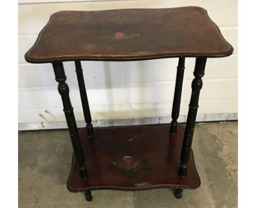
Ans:
[[[25,59],[125,61],[232,52],[203,8],[115,9],[54,13]]]

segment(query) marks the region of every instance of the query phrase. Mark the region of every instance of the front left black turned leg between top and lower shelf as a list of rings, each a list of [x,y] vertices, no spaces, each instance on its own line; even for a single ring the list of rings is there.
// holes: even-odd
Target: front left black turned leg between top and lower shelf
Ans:
[[[85,167],[84,153],[83,153],[82,145],[79,139],[77,123],[75,122],[73,107],[71,105],[71,101],[69,98],[69,88],[67,83],[65,82],[67,77],[65,75],[62,62],[53,62],[53,68],[54,68],[55,79],[57,82],[59,82],[58,90],[61,95],[61,99],[63,103],[63,111],[66,116],[68,130],[71,137],[75,158],[78,162],[80,177],[82,179],[86,179],[88,174]]]

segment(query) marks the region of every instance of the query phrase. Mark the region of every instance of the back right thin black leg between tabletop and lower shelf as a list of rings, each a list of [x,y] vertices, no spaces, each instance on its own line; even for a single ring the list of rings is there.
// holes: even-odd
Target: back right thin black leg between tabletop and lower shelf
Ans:
[[[176,83],[175,90],[172,102],[172,122],[170,128],[170,134],[176,134],[177,132],[177,119],[179,118],[179,108],[181,107],[181,95],[182,95],[182,83],[185,69],[185,58],[180,57],[179,63],[177,66],[177,75],[176,75]]]

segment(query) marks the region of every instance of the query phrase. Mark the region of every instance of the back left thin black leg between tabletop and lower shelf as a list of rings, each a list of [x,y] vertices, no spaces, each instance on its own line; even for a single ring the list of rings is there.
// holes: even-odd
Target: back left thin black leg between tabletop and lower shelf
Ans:
[[[91,124],[91,112],[89,108],[88,97],[87,97],[85,83],[84,83],[83,69],[82,69],[80,60],[75,61],[75,72],[77,72],[77,80],[78,80],[80,97],[81,97],[82,106],[83,106],[84,119],[86,122],[87,134],[88,134],[88,137],[93,137],[94,130],[92,129],[92,124]]]

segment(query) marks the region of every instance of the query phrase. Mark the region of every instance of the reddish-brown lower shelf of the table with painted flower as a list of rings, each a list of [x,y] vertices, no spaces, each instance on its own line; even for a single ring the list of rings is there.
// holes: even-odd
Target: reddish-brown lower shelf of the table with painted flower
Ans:
[[[169,134],[170,125],[95,128],[94,138],[80,130],[88,179],[79,178],[74,154],[67,188],[71,192],[94,189],[142,190],[163,187],[197,188],[191,151],[187,176],[177,175],[184,127]]]

